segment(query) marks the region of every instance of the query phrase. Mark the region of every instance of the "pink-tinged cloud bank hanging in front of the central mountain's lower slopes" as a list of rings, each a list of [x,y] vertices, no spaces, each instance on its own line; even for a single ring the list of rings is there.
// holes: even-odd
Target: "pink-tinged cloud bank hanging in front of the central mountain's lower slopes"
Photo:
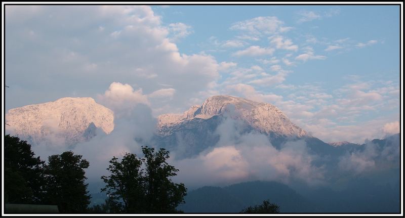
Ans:
[[[240,121],[228,117],[216,130],[220,136],[216,146],[195,158],[173,162],[181,169],[176,180],[195,186],[251,180],[324,182],[324,170],[313,164],[317,157],[308,154],[304,142],[288,142],[277,150],[265,135],[239,134],[240,126]]]

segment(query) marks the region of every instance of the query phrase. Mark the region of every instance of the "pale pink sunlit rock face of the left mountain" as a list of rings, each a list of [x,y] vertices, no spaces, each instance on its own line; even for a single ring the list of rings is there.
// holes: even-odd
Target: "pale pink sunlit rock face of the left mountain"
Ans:
[[[32,144],[59,143],[67,146],[114,129],[113,112],[92,98],[62,98],[54,102],[10,109],[7,130]]]

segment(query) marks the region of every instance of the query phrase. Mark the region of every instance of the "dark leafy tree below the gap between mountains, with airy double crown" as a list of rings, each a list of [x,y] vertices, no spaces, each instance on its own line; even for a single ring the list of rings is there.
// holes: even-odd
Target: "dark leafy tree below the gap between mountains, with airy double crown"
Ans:
[[[184,202],[187,189],[170,179],[179,170],[166,162],[169,151],[142,147],[142,152],[145,158],[126,153],[119,162],[113,157],[107,168],[110,175],[101,177],[106,183],[102,191],[120,208],[119,212],[179,212],[176,207]]]

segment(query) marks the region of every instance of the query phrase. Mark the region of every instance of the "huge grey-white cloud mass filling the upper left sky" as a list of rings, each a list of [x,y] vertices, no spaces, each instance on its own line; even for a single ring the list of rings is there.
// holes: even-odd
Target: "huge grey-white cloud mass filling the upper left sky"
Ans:
[[[143,93],[170,85],[176,90],[172,103],[180,109],[159,101],[150,101],[151,107],[183,110],[219,78],[214,57],[182,54],[173,42],[174,35],[184,37],[191,28],[183,23],[165,26],[148,6],[10,6],[6,11],[7,43],[21,45],[7,52],[7,82],[20,93],[32,93],[21,97],[10,92],[11,108],[73,93],[95,98],[104,91],[100,87],[121,81],[143,88]],[[37,37],[28,39],[29,30],[20,34],[17,24]],[[18,64],[21,59],[24,65]]]

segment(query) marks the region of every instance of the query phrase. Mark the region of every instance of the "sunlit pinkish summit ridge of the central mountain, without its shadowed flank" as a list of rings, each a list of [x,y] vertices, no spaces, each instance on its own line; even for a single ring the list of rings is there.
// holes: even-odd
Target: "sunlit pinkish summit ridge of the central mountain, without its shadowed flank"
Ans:
[[[299,138],[308,136],[305,130],[291,122],[286,114],[274,105],[228,95],[212,96],[203,105],[194,105],[183,114],[160,115],[158,130],[161,135],[170,135],[176,125],[195,118],[207,120],[218,115],[229,115],[234,119],[245,121],[265,134]]]

